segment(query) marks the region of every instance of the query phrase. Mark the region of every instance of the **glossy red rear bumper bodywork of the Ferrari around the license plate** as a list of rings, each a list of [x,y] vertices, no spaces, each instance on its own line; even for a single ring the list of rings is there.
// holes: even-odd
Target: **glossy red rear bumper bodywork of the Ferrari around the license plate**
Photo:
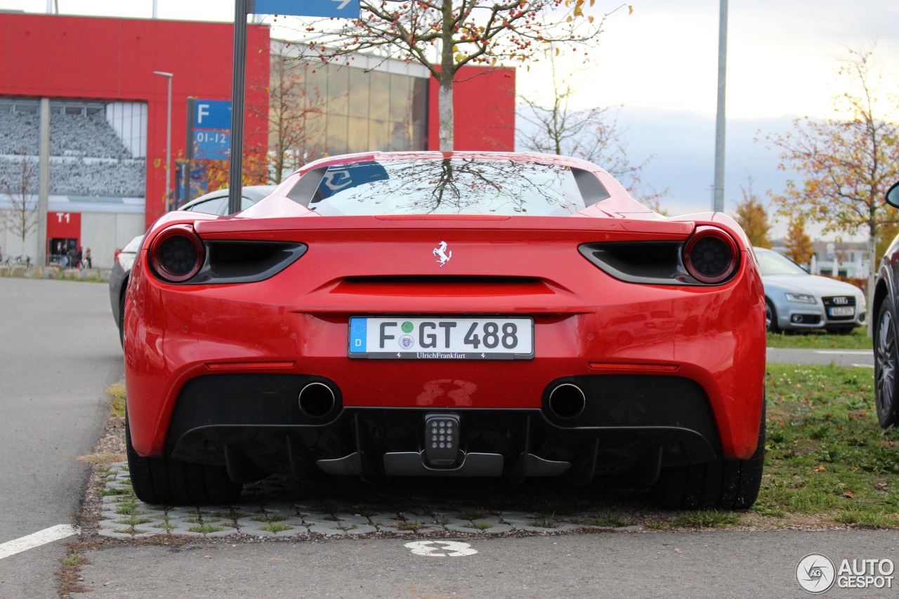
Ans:
[[[558,270],[561,255],[567,255],[570,246],[559,248],[560,256],[549,250],[535,255],[535,261],[547,264],[511,263],[507,278],[518,276],[518,282],[491,286],[468,279],[434,282],[433,277],[414,285],[405,280],[332,279],[326,271],[310,268],[316,265],[310,253],[308,264],[304,256],[284,273],[262,282],[177,287],[145,276],[143,261],[138,260],[125,323],[134,449],[141,456],[171,450],[167,443],[184,434],[170,431],[176,412],[182,409],[183,389],[209,375],[246,377],[236,380],[263,374],[327,380],[350,415],[357,409],[365,414],[416,409],[422,413],[530,410],[539,414],[554,381],[581,377],[605,381],[630,374],[692,381],[703,392],[715,424],[715,433],[704,431],[703,438],[717,437],[709,443],[720,447],[725,458],[752,456],[758,441],[765,367],[764,299],[755,271],[745,270],[715,288],[636,285],[616,281],[579,258],[570,264],[571,273],[565,274],[563,284],[548,275],[532,276],[533,272],[553,273],[554,265]],[[348,357],[350,317],[404,314],[531,317],[534,357]],[[246,393],[256,403],[241,412],[242,420],[218,425],[303,425],[289,420],[254,422],[254,412],[264,411],[268,395],[240,386],[236,393],[238,397]],[[297,393],[295,389],[294,402]],[[669,402],[673,420],[656,428],[679,426],[680,395],[663,388],[657,394]],[[640,405],[636,391],[628,398]],[[214,399],[213,395],[209,401]],[[341,422],[352,420],[341,418]],[[556,427],[564,424],[549,422]],[[530,427],[522,430],[530,431]],[[573,437],[583,433],[565,431]],[[327,459],[342,457],[334,454]]]

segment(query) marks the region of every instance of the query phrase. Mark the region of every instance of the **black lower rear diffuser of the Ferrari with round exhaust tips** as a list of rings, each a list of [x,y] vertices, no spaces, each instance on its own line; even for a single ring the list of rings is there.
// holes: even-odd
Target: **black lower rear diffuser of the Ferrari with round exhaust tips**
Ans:
[[[304,403],[310,384],[331,389],[333,402]],[[583,402],[554,401],[560,386],[580,389]],[[720,451],[708,397],[692,380],[565,377],[542,396],[538,409],[344,407],[341,389],[321,377],[206,375],[182,388],[166,451],[227,466],[241,482],[289,473],[300,480],[558,476],[571,482],[629,475],[644,484],[661,468],[713,460]],[[430,451],[427,423],[435,418],[458,423],[449,459],[447,451]],[[435,425],[434,445],[436,436]],[[440,460],[433,457],[438,453]]]

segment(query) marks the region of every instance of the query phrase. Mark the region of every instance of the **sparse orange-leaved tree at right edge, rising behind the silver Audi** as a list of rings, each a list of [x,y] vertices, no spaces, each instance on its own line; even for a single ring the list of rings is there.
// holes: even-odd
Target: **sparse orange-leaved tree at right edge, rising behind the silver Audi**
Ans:
[[[897,220],[896,211],[884,205],[884,194],[899,180],[899,124],[895,114],[899,97],[885,94],[886,101],[882,102],[877,89],[880,80],[871,73],[871,52],[850,51],[851,58],[838,71],[847,91],[834,98],[834,108],[842,118],[797,119],[793,132],[772,134],[766,139],[781,150],[781,170],[789,167],[805,177],[800,183],[788,181],[784,192],[772,194],[779,214],[820,223],[823,233],[868,233],[870,299],[874,293],[877,235],[882,227]]]

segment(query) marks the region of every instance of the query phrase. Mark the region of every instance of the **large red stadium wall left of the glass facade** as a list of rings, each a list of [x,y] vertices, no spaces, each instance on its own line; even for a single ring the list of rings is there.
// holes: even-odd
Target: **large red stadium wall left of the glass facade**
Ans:
[[[187,97],[231,99],[233,41],[230,23],[0,13],[0,95],[147,102],[149,226],[165,211],[168,102],[167,80],[153,71],[174,74],[174,163],[184,153]],[[267,26],[248,27],[246,57],[245,146],[253,148],[267,144],[267,121],[250,110],[267,112]]]

